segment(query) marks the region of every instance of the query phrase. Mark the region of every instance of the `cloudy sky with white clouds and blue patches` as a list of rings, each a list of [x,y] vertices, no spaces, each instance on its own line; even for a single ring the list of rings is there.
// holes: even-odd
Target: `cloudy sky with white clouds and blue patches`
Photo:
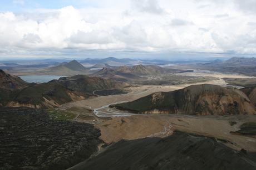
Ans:
[[[0,0],[0,59],[255,54],[256,0]]]

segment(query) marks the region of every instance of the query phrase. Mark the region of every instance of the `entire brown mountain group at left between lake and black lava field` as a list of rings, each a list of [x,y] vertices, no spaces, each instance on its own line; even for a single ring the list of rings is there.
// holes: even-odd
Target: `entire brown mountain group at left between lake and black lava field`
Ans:
[[[120,89],[127,85],[86,75],[60,78],[49,83],[29,84],[0,70],[0,107],[50,109],[66,102],[95,97],[92,94],[95,90]]]

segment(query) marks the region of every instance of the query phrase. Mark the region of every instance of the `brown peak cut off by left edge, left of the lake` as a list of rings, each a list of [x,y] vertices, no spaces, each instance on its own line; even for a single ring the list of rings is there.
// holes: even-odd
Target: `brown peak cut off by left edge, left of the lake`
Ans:
[[[27,87],[29,83],[21,78],[8,74],[0,69],[0,87],[7,89],[21,89]]]

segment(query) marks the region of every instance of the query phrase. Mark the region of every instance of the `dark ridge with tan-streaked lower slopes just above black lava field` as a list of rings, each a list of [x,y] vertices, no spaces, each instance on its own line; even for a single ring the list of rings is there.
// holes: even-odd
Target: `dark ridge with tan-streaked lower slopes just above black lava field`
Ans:
[[[23,89],[7,91],[0,97],[0,107],[33,107],[50,109],[66,102],[88,99],[94,95],[68,89],[57,83],[34,84]]]

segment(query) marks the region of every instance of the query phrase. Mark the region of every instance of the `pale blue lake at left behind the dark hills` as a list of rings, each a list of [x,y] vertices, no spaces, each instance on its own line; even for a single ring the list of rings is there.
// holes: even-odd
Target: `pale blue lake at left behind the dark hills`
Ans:
[[[61,77],[66,77],[63,75],[26,75],[19,76],[22,80],[27,81],[28,83],[47,83],[53,79],[60,79]]]

